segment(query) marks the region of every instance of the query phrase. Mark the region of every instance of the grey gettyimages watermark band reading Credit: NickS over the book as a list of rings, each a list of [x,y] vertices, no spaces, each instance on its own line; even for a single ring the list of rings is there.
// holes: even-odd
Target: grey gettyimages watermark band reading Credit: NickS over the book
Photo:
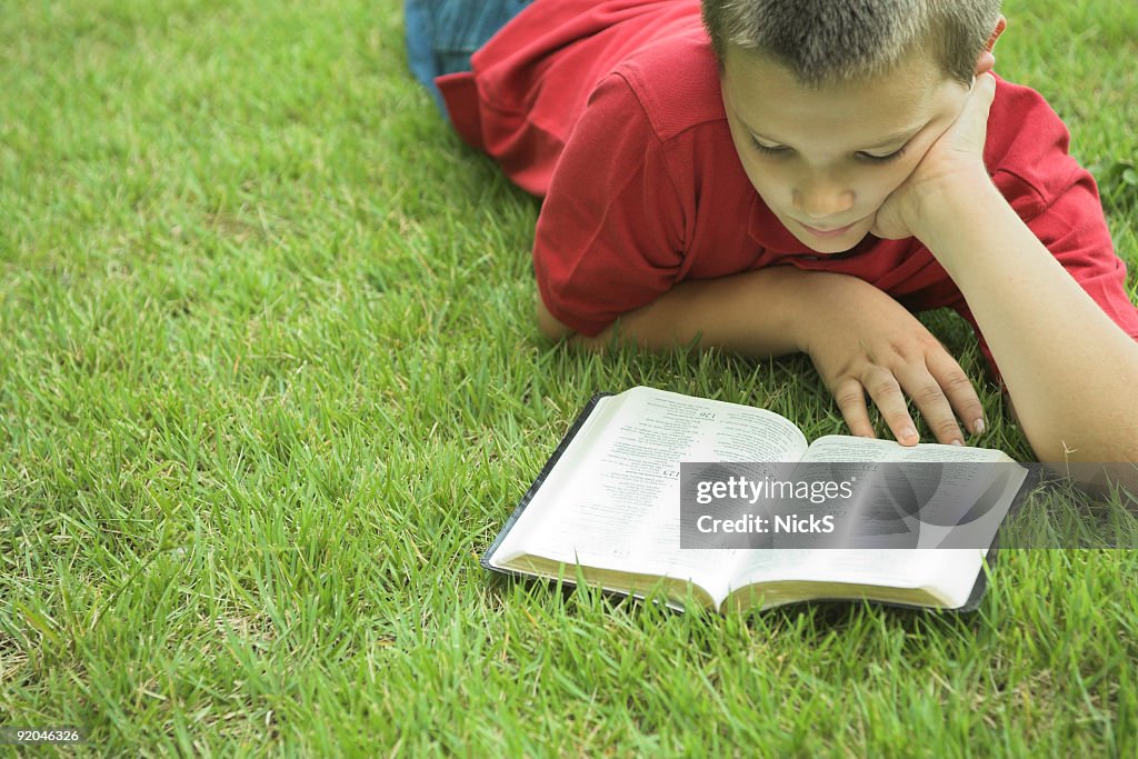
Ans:
[[[1023,506],[1047,479],[1015,462],[684,463],[681,547],[1138,547],[1132,501],[1122,521],[1073,506],[1040,529],[1052,514]]]

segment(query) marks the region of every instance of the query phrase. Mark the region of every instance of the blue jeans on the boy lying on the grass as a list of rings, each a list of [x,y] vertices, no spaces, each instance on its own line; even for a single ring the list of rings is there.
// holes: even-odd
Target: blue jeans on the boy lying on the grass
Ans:
[[[404,0],[411,73],[446,114],[434,79],[470,71],[470,56],[529,5],[529,0]]]

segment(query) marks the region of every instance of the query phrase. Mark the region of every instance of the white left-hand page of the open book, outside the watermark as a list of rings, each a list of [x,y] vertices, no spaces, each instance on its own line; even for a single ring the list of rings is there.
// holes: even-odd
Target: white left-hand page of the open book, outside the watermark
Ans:
[[[495,552],[688,578],[726,588],[734,552],[681,550],[679,463],[797,461],[807,443],[761,409],[633,388],[603,398]],[[591,420],[592,421],[592,420]]]

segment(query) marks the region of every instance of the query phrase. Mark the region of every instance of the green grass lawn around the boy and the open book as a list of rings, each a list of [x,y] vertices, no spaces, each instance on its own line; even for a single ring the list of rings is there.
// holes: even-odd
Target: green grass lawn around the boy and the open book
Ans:
[[[1009,1],[998,52],[1122,178],[1138,10],[1108,5]],[[842,422],[803,357],[539,339],[538,205],[405,73],[391,0],[9,3],[0,91],[0,725],[142,756],[1138,745],[1130,552],[1007,552],[971,616],[488,577],[595,390]],[[1104,196],[1133,264],[1133,187]],[[982,393],[979,442],[1030,459]]]

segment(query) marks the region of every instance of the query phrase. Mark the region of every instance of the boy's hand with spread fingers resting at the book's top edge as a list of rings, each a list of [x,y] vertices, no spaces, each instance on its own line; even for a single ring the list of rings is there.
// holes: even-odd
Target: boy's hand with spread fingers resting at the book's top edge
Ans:
[[[970,431],[982,431],[983,406],[967,374],[904,306],[844,274],[811,272],[810,288],[815,306],[810,321],[801,325],[801,347],[851,434],[875,437],[866,393],[902,445],[918,442],[906,396],[916,402],[940,443],[964,443],[957,416],[966,420]]]

